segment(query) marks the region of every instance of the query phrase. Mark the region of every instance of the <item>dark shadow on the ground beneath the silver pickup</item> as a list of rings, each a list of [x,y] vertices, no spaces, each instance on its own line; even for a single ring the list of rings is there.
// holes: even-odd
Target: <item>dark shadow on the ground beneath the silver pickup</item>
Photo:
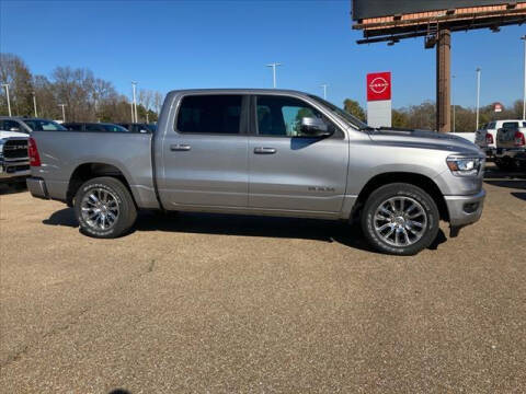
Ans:
[[[77,228],[78,221],[72,208],[54,212],[43,220],[47,225]],[[140,212],[132,232],[165,231],[195,234],[258,236],[275,239],[300,239],[321,242],[338,242],[348,247],[378,253],[373,250],[359,225],[331,220],[258,217],[243,215],[179,212],[161,215]],[[438,248],[446,241],[442,230],[430,250]]]

